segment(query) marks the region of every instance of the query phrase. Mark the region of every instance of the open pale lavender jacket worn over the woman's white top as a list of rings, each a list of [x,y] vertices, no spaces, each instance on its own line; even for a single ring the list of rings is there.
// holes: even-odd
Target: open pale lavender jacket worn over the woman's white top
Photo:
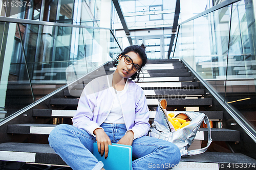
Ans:
[[[73,117],[73,126],[84,129],[91,135],[104,122],[114,104],[111,92],[113,74],[92,80],[84,87],[77,111]],[[127,88],[122,93],[120,104],[127,130],[139,132],[137,137],[147,134],[150,129],[149,111],[146,98],[140,86],[127,79]]]

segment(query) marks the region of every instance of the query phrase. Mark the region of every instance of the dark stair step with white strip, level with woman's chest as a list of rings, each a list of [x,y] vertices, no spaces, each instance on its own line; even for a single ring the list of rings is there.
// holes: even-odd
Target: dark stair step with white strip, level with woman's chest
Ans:
[[[82,90],[65,90],[63,95],[66,97],[80,96]],[[162,89],[162,90],[144,90],[146,96],[165,95],[165,96],[198,96],[204,95],[204,89]]]

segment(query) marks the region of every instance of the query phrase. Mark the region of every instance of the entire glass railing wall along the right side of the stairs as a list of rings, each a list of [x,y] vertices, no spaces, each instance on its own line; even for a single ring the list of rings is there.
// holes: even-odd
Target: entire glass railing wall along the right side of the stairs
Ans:
[[[247,5],[239,1],[182,24],[175,57],[183,58],[256,129],[256,30],[253,8],[248,8],[253,5]]]

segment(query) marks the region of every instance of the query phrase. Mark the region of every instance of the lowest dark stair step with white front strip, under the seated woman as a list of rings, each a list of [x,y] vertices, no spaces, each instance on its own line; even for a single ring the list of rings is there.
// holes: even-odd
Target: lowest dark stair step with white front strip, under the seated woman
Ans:
[[[49,144],[8,142],[0,144],[0,151],[3,151],[0,154],[4,161],[67,166],[55,154]],[[181,162],[177,167],[182,169],[191,169],[191,167],[198,167],[198,169],[206,169],[207,167],[216,169],[255,169],[253,164],[255,167],[255,159],[240,153],[205,152],[198,155],[181,157]],[[236,168],[236,165],[240,165],[240,168]]]

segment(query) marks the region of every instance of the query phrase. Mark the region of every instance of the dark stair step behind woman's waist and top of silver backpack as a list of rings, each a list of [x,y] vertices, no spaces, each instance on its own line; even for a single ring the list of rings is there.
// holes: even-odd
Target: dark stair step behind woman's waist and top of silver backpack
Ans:
[[[32,115],[34,117],[73,117],[75,115],[76,110],[50,110],[50,109],[34,109]],[[167,111],[169,112],[177,112],[177,113],[186,113],[186,111]],[[223,119],[222,111],[197,111],[202,112],[208,116],[211,120],[219,120]],[[154,120],[156,115],[156,111],[150,111],[150,119]]]

